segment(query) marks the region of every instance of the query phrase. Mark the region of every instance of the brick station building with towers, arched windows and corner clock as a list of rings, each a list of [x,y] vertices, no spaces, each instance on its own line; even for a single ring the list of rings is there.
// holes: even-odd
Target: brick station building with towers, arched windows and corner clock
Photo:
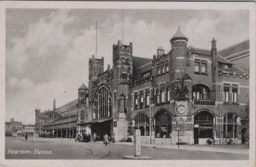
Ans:
[[[206,144],[209,138],[232,138],[242,143],[249,116],[249,75],[217,53],[187,46],[178,29],[172,49],[140,58],[132,43],[113,45],[113,67],[104,71],[104,58],[89,59],[89,85],[78,89],[72,104],[72,133],[105,133],[116,140],[141,130],[149,143]],[[58,136],[68,132],[68,107],[56,109],[63,120]],[[64,116],[66,115],[66,116]],[[55,121],[54,121],[55,122]],[[49,127],[49,130],[51,127]],[[60,130],[59,130],[60,129]],[[62,133],[62,134],[61,134]]]

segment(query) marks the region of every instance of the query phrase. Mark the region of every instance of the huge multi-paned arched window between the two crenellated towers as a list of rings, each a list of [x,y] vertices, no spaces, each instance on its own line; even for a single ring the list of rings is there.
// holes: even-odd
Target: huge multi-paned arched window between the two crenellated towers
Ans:
[[[111,96],[108,88],[102,87],[95,95],[93,119],[108,118],[112,115]]]

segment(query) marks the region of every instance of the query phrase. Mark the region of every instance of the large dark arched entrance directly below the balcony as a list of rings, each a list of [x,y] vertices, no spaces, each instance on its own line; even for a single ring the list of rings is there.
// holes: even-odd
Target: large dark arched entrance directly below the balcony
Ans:
[[[194,117],[194,144],[199,144],[200,139],[214,138],[214,115],[209,111],[200,111]],[[206,142],[206,141],[205,141]]]

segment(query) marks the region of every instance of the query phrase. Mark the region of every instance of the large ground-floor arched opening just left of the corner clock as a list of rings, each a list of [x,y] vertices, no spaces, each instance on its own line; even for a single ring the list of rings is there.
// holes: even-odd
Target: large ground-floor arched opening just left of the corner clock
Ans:
[[[154,116],[155,138],[171,138],[172,116],[165,109],[159,110]]]

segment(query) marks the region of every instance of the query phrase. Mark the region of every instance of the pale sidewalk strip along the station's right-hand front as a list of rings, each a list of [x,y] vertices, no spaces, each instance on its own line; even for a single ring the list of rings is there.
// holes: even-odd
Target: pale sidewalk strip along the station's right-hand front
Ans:
[[[116,142],[113,143],[116,145],[133,145],[133,142]],[[178,149],[178,150],[195,150],[195,151],[206,151],[206,152],[224,152],[224,153],[231,153],[231,154],[249,154],[249,149],[238,149],[238,148],[217,148],[214,147],[207,147],[207,145],[200,147],[198,145],[161,145],[161,144],[153,144],[153,143],[141,143],[143,147],[153,147],[153,148],[168,148],[168,149]]]

